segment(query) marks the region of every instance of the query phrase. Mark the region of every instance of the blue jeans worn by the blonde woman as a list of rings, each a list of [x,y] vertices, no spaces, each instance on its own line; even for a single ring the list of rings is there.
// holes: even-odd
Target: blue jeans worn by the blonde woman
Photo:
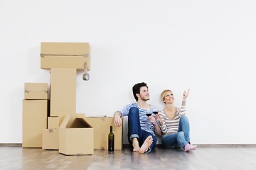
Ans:
[[[186,115],[182,115],[178,125],[178,131],[171,135],[161,137],[161,142],[166,148],[184,147],[190,142],[189,122]]]

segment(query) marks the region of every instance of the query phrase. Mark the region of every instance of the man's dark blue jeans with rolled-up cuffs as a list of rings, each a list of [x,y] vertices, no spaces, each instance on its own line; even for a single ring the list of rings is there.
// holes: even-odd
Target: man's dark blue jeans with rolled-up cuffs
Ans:
[[[129,109],[128,115],[128,141],[129,144],[132,145],[132,138],[137,137],[139,142],[139,147],[142,146],[146,138],[151,135],[153,137],[153,143],[149,147],[149,152],[152,151],[156,147],[156,137],[150,132],[146,132],[142,130],[139,123],[139,109],[136,107],[132,107]]]

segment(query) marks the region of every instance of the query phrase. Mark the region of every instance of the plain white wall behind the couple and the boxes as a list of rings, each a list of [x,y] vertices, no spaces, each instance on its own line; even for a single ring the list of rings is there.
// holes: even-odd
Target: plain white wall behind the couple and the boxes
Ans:
[[[255,144],[256,1],[0,1],[0,143],[22,142],[24,82],[48,82],[41,42],[90,42],[77,113],[112,116],[145,81],[150,103],[191,89],[191,141]],[[124,134],[126,136],[126,134]],[[126,142],[126,141],[124,141]]]

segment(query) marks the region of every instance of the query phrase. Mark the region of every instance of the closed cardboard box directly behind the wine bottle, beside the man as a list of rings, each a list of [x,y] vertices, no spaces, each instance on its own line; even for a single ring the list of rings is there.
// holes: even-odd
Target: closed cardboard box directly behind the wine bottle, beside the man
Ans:
[[[108,134],[110,126],[113,127],[114,149],[122,150],[122,127],[114,125],[114,118],[108,117],[85,117],[87,123],[92,125],[94,130],[94,149],[108,149]]]

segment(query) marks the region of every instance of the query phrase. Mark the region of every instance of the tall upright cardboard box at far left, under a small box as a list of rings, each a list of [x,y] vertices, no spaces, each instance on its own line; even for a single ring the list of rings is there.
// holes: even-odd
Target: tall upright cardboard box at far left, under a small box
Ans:
[[[48,100],[23,100],[22,147],[42,147],[47,117]]]

